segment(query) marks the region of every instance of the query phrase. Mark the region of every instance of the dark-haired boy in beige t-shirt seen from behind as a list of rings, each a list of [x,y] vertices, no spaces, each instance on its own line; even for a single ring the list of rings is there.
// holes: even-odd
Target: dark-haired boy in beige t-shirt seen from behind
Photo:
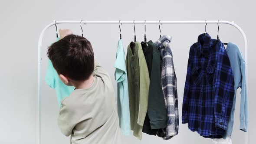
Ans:
[[[48,48],[59,78],[75,90],[62,100],[58,125],[71,144],[121,144],[115,92],[108,73],[94,60],[91,43],[68,35]]]

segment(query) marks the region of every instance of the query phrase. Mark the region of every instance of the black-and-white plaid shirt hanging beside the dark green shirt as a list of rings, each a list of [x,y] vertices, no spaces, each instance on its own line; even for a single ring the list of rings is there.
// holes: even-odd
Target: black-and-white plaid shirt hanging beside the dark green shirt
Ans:
[[[165,106],[167,108],[167,128],[163,129],[165,135],[164,139],[170,139],[177,135],[179,128],[177,78],[174,71],[170,42],[171,36],[161,36],[161,38],[154,43],[162,59],[161,82]]]

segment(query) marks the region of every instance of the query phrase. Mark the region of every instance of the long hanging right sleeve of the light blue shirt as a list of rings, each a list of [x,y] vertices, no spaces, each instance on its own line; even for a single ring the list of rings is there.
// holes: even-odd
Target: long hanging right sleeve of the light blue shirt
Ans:
[[[249,105],[246,85],[246,63],[241,63],[242,85],[241,85],[241,101],[240,101],[240,130],[247,131],[249,124]]]

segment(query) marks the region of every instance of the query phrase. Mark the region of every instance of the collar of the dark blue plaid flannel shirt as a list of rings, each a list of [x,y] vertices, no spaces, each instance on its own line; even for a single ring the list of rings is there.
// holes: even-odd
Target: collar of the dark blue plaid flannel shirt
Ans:
[[[208,57],[210,40],[211,40],[211,36],[208,33],[203,33],[198,36],[198,39],[197,39],[198,56],[203,54],[203,56]],[[203,43],[203,45],[201,45],[201,42]]]

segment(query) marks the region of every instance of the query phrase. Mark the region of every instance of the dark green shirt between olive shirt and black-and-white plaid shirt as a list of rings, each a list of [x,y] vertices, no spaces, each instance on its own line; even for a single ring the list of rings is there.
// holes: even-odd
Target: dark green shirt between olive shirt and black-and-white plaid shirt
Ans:
[[[143,132],[161,136],[161,128],[167,127],[167,111],[161,86],[160,52],[154,43],[142,43],[144,56],[148,65],[150,86],[148,95],[148,112],[144,121]]]

